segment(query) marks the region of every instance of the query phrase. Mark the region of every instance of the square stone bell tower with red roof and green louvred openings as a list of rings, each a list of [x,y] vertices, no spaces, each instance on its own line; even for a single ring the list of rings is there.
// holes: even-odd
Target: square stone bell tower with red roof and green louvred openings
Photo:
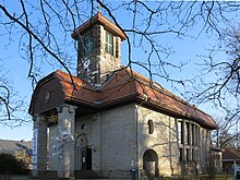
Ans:
[[[125,35],[100,12],[77,27],[77,76],[96,87],[121,65],[121,41]]]

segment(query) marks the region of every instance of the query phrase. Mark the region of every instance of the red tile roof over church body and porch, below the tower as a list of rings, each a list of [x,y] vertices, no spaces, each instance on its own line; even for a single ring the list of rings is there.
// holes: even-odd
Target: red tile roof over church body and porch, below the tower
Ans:
[[[79,106],[105,109],[136,101],[178,118],[191,119],[207,129],[217,128],[211,116],[130,69],[117,71],[99,89],[75,76],[73,86],[70,75],[60,70],[53,75],[61,84],[64,100]]]

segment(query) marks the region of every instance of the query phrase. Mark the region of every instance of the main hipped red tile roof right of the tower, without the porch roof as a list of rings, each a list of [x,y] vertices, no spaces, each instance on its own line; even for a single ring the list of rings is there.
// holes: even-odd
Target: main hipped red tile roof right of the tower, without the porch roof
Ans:
[[[133,98],[160,111],[194,120],[205,128],[217,128],[211,116],[130,69],[116,72],[100,92],[103,104]]]

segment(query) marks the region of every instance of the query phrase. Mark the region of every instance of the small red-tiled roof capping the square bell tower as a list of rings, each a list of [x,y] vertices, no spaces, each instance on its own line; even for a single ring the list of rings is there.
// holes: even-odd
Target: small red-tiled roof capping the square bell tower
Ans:
[[[95,24],[100,24],[103,25],[108,32],[111,34],[119,36],[121,40],[125,39],[124,33],[111,21],[109,21],[107,17],[100,14],[98,12],[96,15],[94,15],[92,19],[83,23],[80,27],[77,27],[73,33],[72,33],[72,38],[77,39],[79,34],[83,35],[85,34],[93,25]]]

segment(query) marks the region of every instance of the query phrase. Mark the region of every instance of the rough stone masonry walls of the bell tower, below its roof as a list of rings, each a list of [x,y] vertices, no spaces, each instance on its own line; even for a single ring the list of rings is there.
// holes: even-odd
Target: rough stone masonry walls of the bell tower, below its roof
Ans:
[[[88,32],[89,33],[89,32]],[[79,40],[77,75],[87,80],[91,84],[99,86],[105,83],[107,77],[121,65],[121,38],[113,36],[113,55],[106,52],[106,29],[103,25],[94,25],[92,29],[93,51],[84,55],[84,35]],[[89,67],[85,68],[84,62],[91,61]]]

